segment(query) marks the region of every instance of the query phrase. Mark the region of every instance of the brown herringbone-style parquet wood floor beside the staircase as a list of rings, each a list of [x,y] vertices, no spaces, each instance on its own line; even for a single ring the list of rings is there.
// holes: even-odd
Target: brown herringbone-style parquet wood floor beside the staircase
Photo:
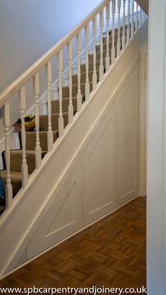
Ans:
[[[146,198],[139,197],[4,278],[0,287],[146,286]]]

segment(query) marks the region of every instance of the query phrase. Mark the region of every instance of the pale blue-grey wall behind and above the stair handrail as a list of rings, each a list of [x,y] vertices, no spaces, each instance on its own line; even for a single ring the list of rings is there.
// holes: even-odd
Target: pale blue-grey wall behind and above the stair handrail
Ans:
[[[101,0],[0,0],[1,91],[100,2]],[[27,110],[33,103],[33,97],[29,95]],[[11,98],[11,124],[18,116],[16,96]],[[0,144],[4,137],[3,129],[0,120]]]

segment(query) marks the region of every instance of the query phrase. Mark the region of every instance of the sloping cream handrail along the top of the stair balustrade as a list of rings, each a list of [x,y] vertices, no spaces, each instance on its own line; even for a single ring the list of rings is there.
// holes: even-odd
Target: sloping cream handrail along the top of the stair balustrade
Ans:
[[[77,35],[94,17],[102,11],[102,9],[108,5],[111,0],[103,0],[101,4],[87,15],[73,30],[63,37],[56,45],[54,45],[49,51],[46,52],[41,58],[39,58],[33,65],[30,66],[25,72],[20,75],[10,86],[8,86],[4,92],[0,94],[0,106],[3,106],[8,99],[15,94],[23,85],[30,80],[40,68],[42,68],[46,63],[48,63],[53,56],[58,54],[58,52],[68,44],[75,35]]]

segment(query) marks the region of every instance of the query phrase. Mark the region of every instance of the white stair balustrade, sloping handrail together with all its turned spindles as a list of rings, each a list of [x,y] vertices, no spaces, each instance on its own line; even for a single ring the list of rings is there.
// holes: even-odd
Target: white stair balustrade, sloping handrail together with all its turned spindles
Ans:
[[[134,7],[136,9],[134,9]],[[117,15],[117,16],[116,16]],[[116,19],[117,18],[117,19]],[[20,108],[21,127],[21,146],[22,146],[22,165],[21,165],[21,183],[22,187],[26,187],[28,182],[28,167],[26,155],[26,131],[25,131],[25,114],[26,114],[26,84],[32,81],[34,106],[35,106],[35,168],[41,166],[41,144],[39,132],[39,95],[41,93],[39,75],[41,68],[45,68],[46,81],[45,89],[47,93],[47,111],[48,111],[48,130],[47,144],[48,151],[53,149],[53,127],[52,127],[52,111],[51,111],[51,84],[52,71],[57,72],[58,77],[58,137],[63,136],[64,118],[63,118],[63,49],[68,50],[68,123],[73,121],[73,97],[72,90],[75,84],[72,83],[72,60],[77,58],[77,111],[82,108],[82,99],[87,101],[90,98],[90,89],[93,91],[97,88],[97,82],[103,80],[104,73],[108,73],[110,65],[115,63],[116,58],[122,54],[130,39],[139,30],[141,24],[146,19],[146,14],[141,11],[138,4],[134,6],[134,0],[104,0],[92,11],[87,18],[77,25],[69,34],[67,34],[60,42],[42,56],[34,65],[23,73],[15,82],[11,84],[4,92],[0,94],[0,107],[4,106],[4,134],[5,134],[5,160],[6,160],[6,208],[10,209],[13,204],[12,180],[10,168],[10,142],[9,131],[11,130],[11,121],[9,115],[9,104],[13,94],[18,94]],[[116,27],[117,23],[117,27]],[[84,33],[84,41],[82,34]],[[76,46],[74,39],[76,39]],[[100,40],[99,51],[98,39]],[[106,42],[104,41],[106,39]],[[82,82],[82,62],[81,50],[84,43],[85,53],[85,73],[84,82]],[[93,44],[92,63],[93,69],[89,67],[89,46]],[[98,58],[99,56],[99,58]],[[52,58],[57,58],[57,69]],[[98,64],[98,67],[97,67]],[[89,80],[91,73],[91,79]],[[82,95],[82,83],[84,84],[84,97]],[[90,87],[92,83],[92,87]]]

